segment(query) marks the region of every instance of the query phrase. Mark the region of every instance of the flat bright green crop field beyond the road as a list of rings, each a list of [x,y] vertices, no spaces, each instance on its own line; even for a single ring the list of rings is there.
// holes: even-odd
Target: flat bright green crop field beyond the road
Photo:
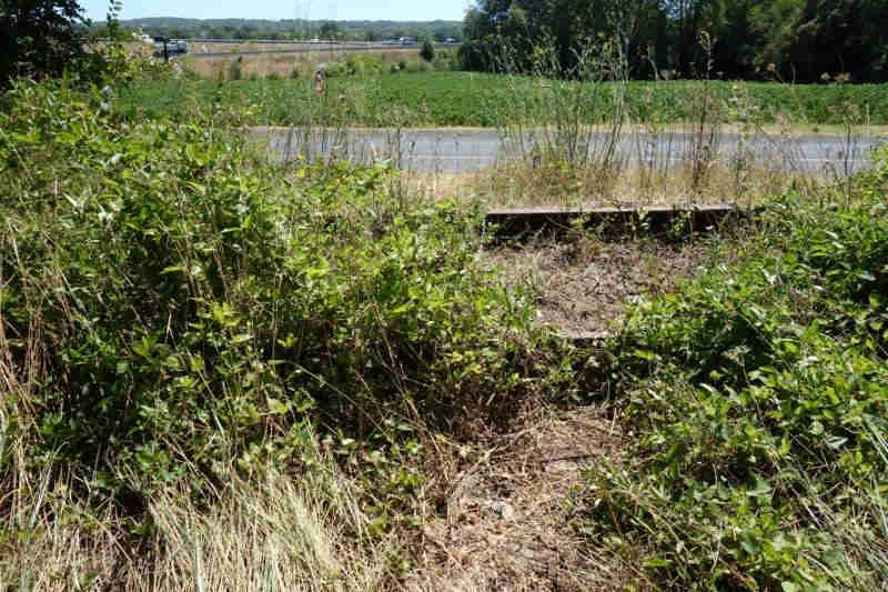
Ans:
[[[845,124],[888,123],[888,86],[885,84],[783,84],[770,82],[662,81],[629,82],[627,112],[636,122],[683,122],[694,118],[687,100],[700,86],[716,99],[723,122],[744,119],[760,123]],[[558,92],[571,84],[556,84]],[[606,90],[606,89],[605,89]],[[545,80],[505,78],[470,72],[383,73],[376,77],[330,79],[327,101],[340,122],[352,126],[467,126],[496,127],[511,113],[517,98],[531,101],[526,116],[535,123],[548,120]],[[606,121],[613,104],[609,92],[594,97],[581,108],[587,122]],[[246,124],[297,126],[305,114],[317,111],[316,97],[307,80],[163,80],[141,82],[120,97],[123,112],[142,116],[188,118],[195,107],[211,109],[213,100],[243,112]]]

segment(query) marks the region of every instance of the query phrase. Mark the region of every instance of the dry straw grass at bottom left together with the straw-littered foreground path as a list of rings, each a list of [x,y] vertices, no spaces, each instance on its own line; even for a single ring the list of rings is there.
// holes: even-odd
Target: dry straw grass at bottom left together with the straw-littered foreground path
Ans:
[[[618,590],[625,574],[582,544],[569,504],[586,463],[618,459],[615,423],[587,408],[538,409],[516,424],[470,454],[437,445],[427,489],[438,493],[418,535],[371,535],[357,490],[332,464],[309,476],[233,476],[211,503],[160,492],[148,509],[153,533],[138,545],[111,503],[72,493],[82,483],[22,472],[0,523],[0,589]],[[413,565],[404,574],[398,556]]]

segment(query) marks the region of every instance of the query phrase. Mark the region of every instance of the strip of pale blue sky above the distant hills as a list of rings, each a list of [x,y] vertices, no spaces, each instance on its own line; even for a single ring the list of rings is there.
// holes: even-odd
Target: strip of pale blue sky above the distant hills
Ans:
[[[123,19],[336,19],[463,20],[470,0],[123,0]],[[94,21],[104,20],[108,0],[81,0]]]

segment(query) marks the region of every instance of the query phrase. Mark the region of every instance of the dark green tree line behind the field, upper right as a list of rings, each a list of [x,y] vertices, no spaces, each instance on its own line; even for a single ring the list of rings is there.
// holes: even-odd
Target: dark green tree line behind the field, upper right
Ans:
[[[888,0],[476,0],[464,32],[470,70],[506,53],[529,70],[547,48],[569,76],[606,40],[639,79],[888,79]]]

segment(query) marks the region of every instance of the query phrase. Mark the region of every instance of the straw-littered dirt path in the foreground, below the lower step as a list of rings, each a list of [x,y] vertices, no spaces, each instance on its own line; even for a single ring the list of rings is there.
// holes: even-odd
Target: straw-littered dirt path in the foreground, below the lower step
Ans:
[[[588,463],[618,460],[623,435],[596,408],[536,410],[454,474],[426,520],[408,590],[620,590],[627,573],[574,526]]]

